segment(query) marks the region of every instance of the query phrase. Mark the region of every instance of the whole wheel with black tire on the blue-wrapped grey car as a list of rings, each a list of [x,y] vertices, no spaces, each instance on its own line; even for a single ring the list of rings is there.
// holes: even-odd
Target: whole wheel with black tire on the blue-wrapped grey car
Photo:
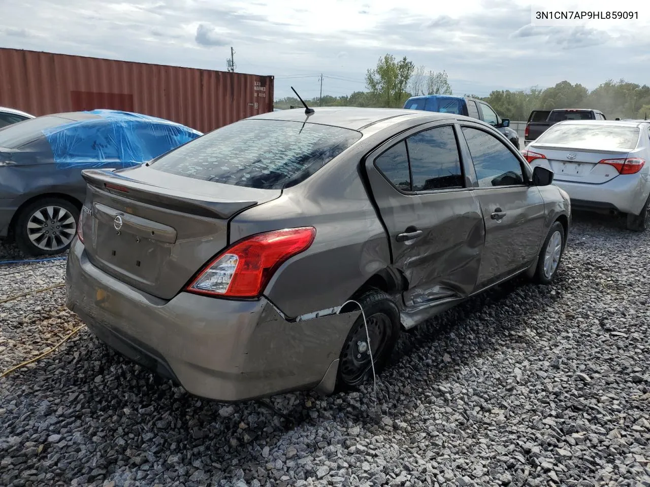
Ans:
[[[36,199],[21,208],[16,218],[16,245],[32,256],[62,253],[77,233],[77,221],[79,208],[70,201],[59,197]]]

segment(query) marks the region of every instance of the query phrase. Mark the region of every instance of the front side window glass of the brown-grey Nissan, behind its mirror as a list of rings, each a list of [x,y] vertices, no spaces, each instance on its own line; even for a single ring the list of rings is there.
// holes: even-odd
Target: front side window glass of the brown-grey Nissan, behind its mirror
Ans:
[[[478,186],[493,188],[524,184],[519,159],[498,138],[471,127],[463,127],[463,135],[474,162]]]

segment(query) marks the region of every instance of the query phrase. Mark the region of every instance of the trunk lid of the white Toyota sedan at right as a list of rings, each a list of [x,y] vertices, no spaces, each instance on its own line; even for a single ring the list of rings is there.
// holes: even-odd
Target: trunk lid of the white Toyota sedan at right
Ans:
[[[532,160],[530,165],[544,166],[553,171],[555,181],[603,184],[619,175],[614,166],[599,164],[604,159],[637,157],[638,151],[603,151],[602,149],[571,149],[554,145],[528,146],[530,151],[543,154],[546,159]]]

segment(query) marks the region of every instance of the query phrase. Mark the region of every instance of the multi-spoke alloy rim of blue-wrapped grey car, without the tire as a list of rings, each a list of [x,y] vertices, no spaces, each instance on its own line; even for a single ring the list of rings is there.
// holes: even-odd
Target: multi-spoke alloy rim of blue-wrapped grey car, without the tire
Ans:
[[[77,222],[66,208],[45,206],[27,221],[27,236],[39,249],[57,251],[72,242]]]

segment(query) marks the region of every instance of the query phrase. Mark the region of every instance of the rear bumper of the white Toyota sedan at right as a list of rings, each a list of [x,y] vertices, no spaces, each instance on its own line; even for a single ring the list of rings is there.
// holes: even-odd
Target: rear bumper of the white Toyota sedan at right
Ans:
[[[603,184],[553,181],[571,197],[571,208],[638,215],[650,194],[650,183],[638,174],[621,174]]]

